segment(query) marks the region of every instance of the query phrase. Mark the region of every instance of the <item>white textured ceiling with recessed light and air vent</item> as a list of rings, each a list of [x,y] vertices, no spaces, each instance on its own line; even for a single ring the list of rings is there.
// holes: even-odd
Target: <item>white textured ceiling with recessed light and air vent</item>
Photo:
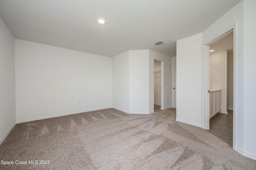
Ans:
[[[240,1],[0,0],[0,17],[21,40],[110,57],[132,49],[173,57],[177,40],[203,32]]]

